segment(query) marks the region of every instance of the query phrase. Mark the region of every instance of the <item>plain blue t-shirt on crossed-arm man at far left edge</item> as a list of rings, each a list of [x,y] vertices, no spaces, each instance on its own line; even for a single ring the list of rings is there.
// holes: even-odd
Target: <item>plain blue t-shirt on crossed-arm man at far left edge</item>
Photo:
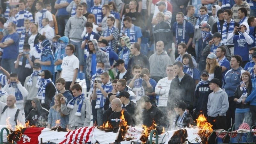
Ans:
[[[6,35],[2,39],[2,43],[12,39],[14,43],[5,47],[3,49],[2,59],[17,59],[19,54],[19,35],[17,33],[13,33],[11,35]]]

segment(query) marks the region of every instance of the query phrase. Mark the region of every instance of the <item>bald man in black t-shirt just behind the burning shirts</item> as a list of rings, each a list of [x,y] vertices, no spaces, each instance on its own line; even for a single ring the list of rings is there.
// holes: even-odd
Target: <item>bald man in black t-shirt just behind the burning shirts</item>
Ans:
[[[122,116],[121,111],[122,109],[122,102],[120,99],[116,98],[111,101],[110,107],[112,108],[112,111],[114,111],[110,116],[109,116],[109,122],[114,128],[119,127],[120,117]],[[132,117],[131,115],[124,110],[124,119],[127,121],[127,125],[132,125]]]

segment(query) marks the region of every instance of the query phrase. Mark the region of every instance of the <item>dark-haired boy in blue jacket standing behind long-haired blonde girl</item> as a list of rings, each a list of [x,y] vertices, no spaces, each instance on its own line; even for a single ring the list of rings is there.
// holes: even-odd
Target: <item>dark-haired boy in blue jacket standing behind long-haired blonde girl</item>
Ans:
[[[68,101],[70,101],[73,97],[70,91],[65,89],[65,84],[66,84],[66,81],[64,78],[59,78],[56,80],[56,88],[61,94],[63,94],[63,96],[66,98],[65,102],[66,104],[68,104]],[[54,97],[52,98],[50,107],[52,107],[53,105],[54,105]]]

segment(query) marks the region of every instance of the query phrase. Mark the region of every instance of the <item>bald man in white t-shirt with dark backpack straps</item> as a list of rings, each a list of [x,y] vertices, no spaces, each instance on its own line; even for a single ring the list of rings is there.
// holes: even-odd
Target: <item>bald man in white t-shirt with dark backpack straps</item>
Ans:
[[[22,115],[20,109],[16,108],[16,98],[14,95],[8,95],[6,104],[0,101],[0,113],[1,120],[0,125],[7,125],[7,118],[10,117],[9,123],[11,124],[11,130],[14,130],[15,125],[25,125],[25,116]]]

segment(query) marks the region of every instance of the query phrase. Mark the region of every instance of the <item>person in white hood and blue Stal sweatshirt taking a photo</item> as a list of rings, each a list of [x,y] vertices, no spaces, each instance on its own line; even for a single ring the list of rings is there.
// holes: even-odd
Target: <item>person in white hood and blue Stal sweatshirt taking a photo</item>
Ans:
[[[238,30],[239,35],[235,35],[233,31],[233,33],[228,34],[227,43],[235,44],[234,55],[240,55],[244,62],[249,61],[248,51],[251,48],[251,44],[254,42],[254,37],[249,35],[250,29],[247,22],[242,22],[239,25],[239,28],[241,27],[243,27],[242,29],[244,29],[244,33]]]

